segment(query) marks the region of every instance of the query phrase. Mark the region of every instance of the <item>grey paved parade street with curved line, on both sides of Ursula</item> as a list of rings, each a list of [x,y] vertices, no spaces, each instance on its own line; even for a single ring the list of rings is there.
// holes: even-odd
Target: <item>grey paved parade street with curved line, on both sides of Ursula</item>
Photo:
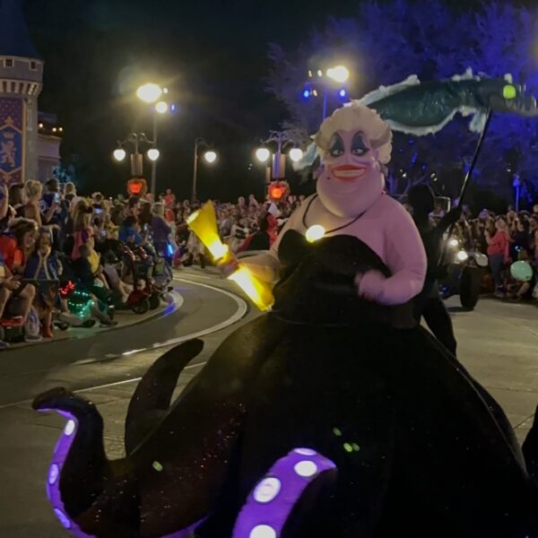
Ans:
[[[39,414],[30,401],[53,386],[66,386],[98,404],[105,421],[108,456],[124,455],[126,407],[136,381],[153,360],[191,337],[204,351],[179,379],[178,391],[203,368],[221,341],[255,317],[230,282],[189,269],[174,282],[177,306],[139,325],[0,355],[0,537],[67,536],[45,496],[48,459],[65,422]],[[538,310],[531,305],[482,299],[473,312],[449,301],[459,359],[502,404],[519,438],[538,404]]]

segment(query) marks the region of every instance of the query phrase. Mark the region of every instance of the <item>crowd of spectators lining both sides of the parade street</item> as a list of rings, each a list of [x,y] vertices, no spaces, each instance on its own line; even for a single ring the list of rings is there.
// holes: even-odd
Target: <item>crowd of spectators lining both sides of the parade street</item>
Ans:
[[[239,255],[271,247],[279,230],[304,201],[288,195],[278,202],[254,195],[237,203],[213,201],[221,239]],[[28,181],[0,187],[0,319],[7,328],[24,326],[30,341],[50,338],[55,322],[114,325],[134,282],[122,270],[118,245],[151,243],[169,265],[211,264],[204,246],[187,227],[200,204],[179,201],[170,189],[154,201],[150,195],[106,198],[78,195],[74,184],[56,179],[42,185]],[[432,221],[442,216],[440,208]],[[483,210],[474,217],[464,208],[454,237],[467,250],[487,255],[490,279],[498,297],[538,298],[536,278],[514,282],[508,271],[515,261],[538,266],[538,204],[533,212],[506,214]],[[67,287],[67,289],[65,289]],[[87,308],[77,308],[86,300]],[[80,307],[80,305],[79,305]],[[81,314],[82,312],[82,314]],[[0,340],[0,348],[7,347]]]

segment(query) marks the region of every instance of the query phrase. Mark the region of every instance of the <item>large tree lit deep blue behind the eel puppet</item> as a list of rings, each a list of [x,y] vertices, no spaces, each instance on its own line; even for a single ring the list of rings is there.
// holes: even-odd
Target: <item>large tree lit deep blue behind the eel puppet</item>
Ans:
[[[482,4],[475,11],[454,11],[440,0],[385,4],[372,0],[360,5],[354,19],[329,19],[323,30],[312,31],[298,48],[271,46],[273,68],[267,90],[288,108],[288,127],[310,133],[319,125],[321,103],[300,99],[305,74],[336,59],[351,67],[356,97],[380,85],[401,82],[410,74],[418,74],[421,80],[443,79],[464,74],[467,68],[492,77],[510,73],[515,82],[538,90],[537,14],[536,9],[501,2]],[[337,106],[334,101],[330,104]],[[395,134],[389,187],[402,192],[416,182],[453,177],[456,170],[463,175],[477,141],[468,129],[469,121],[457,117],[440,133],[424,137]],[[537,184],[536,157],[534,119],[493,117],[476,180],[505,194],[511,192],[514,174]],[[459,183],[445,185],[447,194],[454,197]]]

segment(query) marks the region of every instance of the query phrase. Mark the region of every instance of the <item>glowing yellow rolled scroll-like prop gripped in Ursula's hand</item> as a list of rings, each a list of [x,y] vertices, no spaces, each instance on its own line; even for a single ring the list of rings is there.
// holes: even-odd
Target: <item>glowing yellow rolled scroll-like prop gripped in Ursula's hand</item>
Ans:
[[[189,215],[187,224],[204,243],[204,247],[209,250],[217,264],[226,264],[233,260],[229,248],[222,244],[219,237],[217,216],[212,202],[206,202],[201,209]],[[269,310],[273,306],[273,291],[265,282],[258,280],[246,265],[239,264],[228,278],[236,282],[260,310]]]

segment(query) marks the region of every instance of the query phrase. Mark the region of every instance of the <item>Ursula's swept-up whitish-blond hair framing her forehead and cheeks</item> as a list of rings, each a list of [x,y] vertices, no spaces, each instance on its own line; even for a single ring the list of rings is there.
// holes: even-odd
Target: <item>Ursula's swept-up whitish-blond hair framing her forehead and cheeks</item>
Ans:
[[[369,137],[372,146],[378,150],[379,161],[383,164],[390,161],[392,131],[376,110],[352,103],[348,107],[338,108],[331,117],[327,117],[315,137],[322,158],[328,152],[331,137],[336,131],[362,131]]]

